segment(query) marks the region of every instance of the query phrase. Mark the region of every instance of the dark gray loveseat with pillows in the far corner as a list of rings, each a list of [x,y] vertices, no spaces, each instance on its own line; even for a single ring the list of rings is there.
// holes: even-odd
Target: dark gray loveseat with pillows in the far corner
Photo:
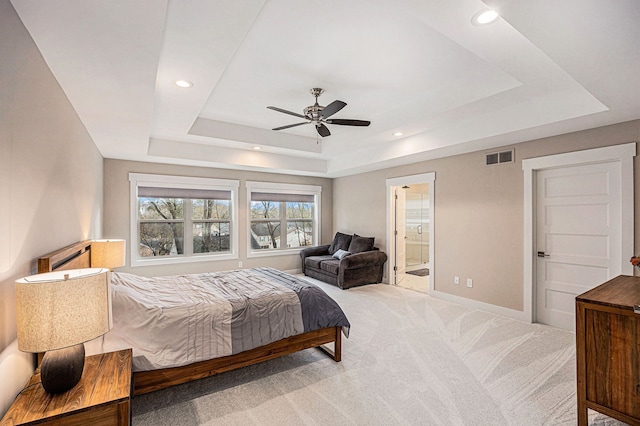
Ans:
[[[382,281],[387,255],[373,237],[336,233],[331,244],[303,249],[302,272],[342,289]]]

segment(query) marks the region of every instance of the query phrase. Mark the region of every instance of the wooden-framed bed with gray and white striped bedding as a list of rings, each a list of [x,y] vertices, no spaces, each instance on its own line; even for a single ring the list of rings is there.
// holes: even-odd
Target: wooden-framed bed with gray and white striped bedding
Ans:
[[[91,267],[90,250],[87,240],[45,255],[38,272]],[[114,326],[91,343],[104,352],[133,348],[134,395],[309,348],[339,362],[350,327],[319,287],[272,268],[156,278],[113,272],[111,283]]]

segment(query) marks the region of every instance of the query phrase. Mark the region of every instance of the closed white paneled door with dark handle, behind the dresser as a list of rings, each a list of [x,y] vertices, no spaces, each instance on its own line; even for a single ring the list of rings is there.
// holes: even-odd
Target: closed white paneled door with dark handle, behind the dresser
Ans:
[[[536,176],[536,320],[575,329],[575,297],[621,273],[620,162]]]

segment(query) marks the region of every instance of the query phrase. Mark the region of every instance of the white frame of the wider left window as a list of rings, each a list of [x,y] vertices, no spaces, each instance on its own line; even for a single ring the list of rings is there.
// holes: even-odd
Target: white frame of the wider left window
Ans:
[[[153,256],[149,258],[140,257],[137,249],[140,245],[139,221],[138,221],[138,188],[139,187],[155,187],[155,188],[171,188],[184,190],[214,190],[228,191],[231,193],[231,218],[229,241],[229,251],[224,253],[191,253],[181,256]],[[238,259],[238,188],[240,181],[233,179],[215,179],[200,178],[188,176],[170,176],[170,175],[154,175],[146,173],[129,173],[129,196],[130,196],[130,233],[131,233],[131,267],[152,266],[152,265],[168,265],[179,263],[194,262],[211,262],[217,260]],[[185,199],[185,213],[191,210],[191,202],[189,198]],[[192,235],[192,228],[195,222],[200,223],[201,220],[194,220],[191,216],[182,219],[184,223],[185,244],[187,236]],[[189,229],[189,230],[187,230]],[[192,244],[192,243],[191,243]]]

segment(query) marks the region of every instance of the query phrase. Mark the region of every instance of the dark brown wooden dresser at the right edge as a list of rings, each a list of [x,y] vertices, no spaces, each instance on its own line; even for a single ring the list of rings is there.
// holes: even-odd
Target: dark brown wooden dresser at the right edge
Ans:
[[[640,278],[618,276],[576,297],[578,425],[587,409],[640,425]]]

